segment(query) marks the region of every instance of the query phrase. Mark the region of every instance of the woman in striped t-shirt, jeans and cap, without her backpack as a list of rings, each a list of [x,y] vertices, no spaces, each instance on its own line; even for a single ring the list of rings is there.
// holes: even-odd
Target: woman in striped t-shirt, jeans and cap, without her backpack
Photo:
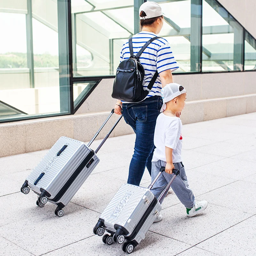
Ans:
[[[140,28],[141,32],[132,37],[134,54],[138,53],[142,46],[151,38],[156,37],[161,31],[164,18],[161,7],[155,2],[146,2],[140,6]],[[120,59],[129,59],[128,40],[123,45]],[[167,40],[159,38],[154,40],[140,55],[140,63],[145,69],[143,87],[146,88],[156,71],[159,75],[148,96],[138,102],[129,103],[117,100],[115,113],[123,114],[124,120],[129,124],[135,134],[134,154],[129,167],[127,183],[140,185],[140,180],[147,167],[151,175],[151,160],[154,151],[154,131],[156,118],[162,107],[161,88],[166,84],[173,83],[172,71],[178,67],[171,47]]]

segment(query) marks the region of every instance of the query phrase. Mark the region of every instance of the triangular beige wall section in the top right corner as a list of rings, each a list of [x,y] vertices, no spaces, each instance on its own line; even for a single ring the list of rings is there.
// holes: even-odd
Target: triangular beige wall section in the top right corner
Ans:
[[[255,0],[218,0],[256,38]]]

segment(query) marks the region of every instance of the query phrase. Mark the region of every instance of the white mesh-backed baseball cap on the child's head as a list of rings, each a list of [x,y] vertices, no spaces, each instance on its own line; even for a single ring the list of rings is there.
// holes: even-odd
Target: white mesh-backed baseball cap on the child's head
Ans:
[[[178,97],[179,95],[185,93],[185,88],[176,83],[166,84],[164,88],[161,89],[161,95],[163,99],[163,106],[160,110],[160,112],[163,112],[164,109],[166,109],[166,102],[173,100],[174,98]]]

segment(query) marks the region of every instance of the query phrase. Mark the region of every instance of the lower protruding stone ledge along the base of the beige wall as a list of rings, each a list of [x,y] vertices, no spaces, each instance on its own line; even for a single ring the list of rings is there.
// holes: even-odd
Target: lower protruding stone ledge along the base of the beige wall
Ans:
[[[188,101],[181,120],[183,124],[189,124],[251,112],[256,112],[256,94]],[[94,112],[0,124],[0,157],[51,148],[60,136],[89,141],[109,113]],[[98,139],[105,137],[117,118],[115,114],[111,117]],[[131,133],[132,128],[122,119],[110,136]]]

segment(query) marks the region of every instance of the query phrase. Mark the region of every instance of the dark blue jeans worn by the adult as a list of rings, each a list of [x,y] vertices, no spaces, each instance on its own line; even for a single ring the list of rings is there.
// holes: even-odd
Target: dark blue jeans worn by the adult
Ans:
[[[149,97],[139,103],[123,103],[124,120],[136,134],[127,181],[129,184],[140,185],[146,166],[151,175],[156,118],[160,114],[162,104],[161,96]]]

